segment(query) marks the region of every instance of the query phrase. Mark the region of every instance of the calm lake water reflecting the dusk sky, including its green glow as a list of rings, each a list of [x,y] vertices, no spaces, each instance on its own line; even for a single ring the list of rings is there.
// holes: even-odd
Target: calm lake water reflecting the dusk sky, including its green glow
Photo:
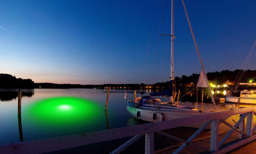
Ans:
[[[137,90],[137,97],[149,92],[153,91]],[[127,93],[129,98],[134,98],[133,90],[127,90]],[[219,91],[218,95],[224,93]],[[124,90],[111,90],[109,94],[110,128],[146,123],[131,117],[126,111],[124,96]],[[198,96],[198,102],[201,102],[199,90]],[[181,102],[196,102],[196,91],[183,91],[180,97]],[[161,100],[165,101],[163,97]],[[103,89],[24,89],[19,121],[23,141],[105,130],[105,102]],[[204,102],[211,102],[207,92],[204,93]],[[0,145],[20,142],[19,122],[18,90],[0,89]]]

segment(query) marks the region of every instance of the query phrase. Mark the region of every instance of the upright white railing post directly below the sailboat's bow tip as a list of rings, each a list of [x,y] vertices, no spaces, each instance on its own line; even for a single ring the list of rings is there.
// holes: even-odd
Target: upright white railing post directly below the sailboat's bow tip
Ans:
[[[220,119],[212,120],[211,122],[211,147],[210,150],[218,151],[218,138],[219,138],[219,121]]]

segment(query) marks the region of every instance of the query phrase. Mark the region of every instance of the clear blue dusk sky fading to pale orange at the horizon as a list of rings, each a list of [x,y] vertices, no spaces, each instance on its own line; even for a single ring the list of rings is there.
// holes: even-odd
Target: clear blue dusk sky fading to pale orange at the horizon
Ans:
[[[256,1],[184,2],[205,71],[240,69],[256,39]],[[174,3],[174,76],[199,74]],[[2,0],[0,10],[0,73],[83,85],[169,80],[170,37],[158,34],[171,34],[170,0]]]

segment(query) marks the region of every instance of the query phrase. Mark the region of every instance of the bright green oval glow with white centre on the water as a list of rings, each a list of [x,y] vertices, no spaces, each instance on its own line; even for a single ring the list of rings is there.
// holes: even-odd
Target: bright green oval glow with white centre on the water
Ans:
[[[55,97],[34,102],[24,108],[29,121],[40,124],[66,125],[93,123],[101,118],[103,109],[97,102],[76,97]]]

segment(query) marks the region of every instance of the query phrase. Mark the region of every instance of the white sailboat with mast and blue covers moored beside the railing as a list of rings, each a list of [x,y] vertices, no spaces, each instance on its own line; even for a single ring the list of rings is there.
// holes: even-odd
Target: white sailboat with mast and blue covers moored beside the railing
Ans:
[[[204,70],[204,66],[199,54],[199,50],[195,41],[194,33],[188,18],[188,13],[185,8],[184,1],[182,0],[185,13],[188,19],[188,24],[190,26],[191,34],[194,40],[194,44],[198,53],[198,58],[201,63],[201,73],[198,79],[197,87],[208,88],[211,94],[211,99],[215,107],[215,112],[217,112],[217,107],[211,93],[210,85]],[[197,116],[202,114],[213,113],[213,111],[199,111],[198,109],[192,107],[181,106],[178,104],[173,104],[173,43],[174,43],[174,0],[171,0],[172,11],[171,11],[171,35],[165,35],[171,37],[171,78],[170,78],[170,87],[163,92],[150,93],[150,96],[143,96],[142,98],[137,97],[135,100],[128,100],[127,111],[135,118],[140,120],[145,120],[149,122],[159,122],[164,120],[173,120],[191,116]],[[154,98],[153,96],[169,96],[169,102],[161,102],[160,99]]]

